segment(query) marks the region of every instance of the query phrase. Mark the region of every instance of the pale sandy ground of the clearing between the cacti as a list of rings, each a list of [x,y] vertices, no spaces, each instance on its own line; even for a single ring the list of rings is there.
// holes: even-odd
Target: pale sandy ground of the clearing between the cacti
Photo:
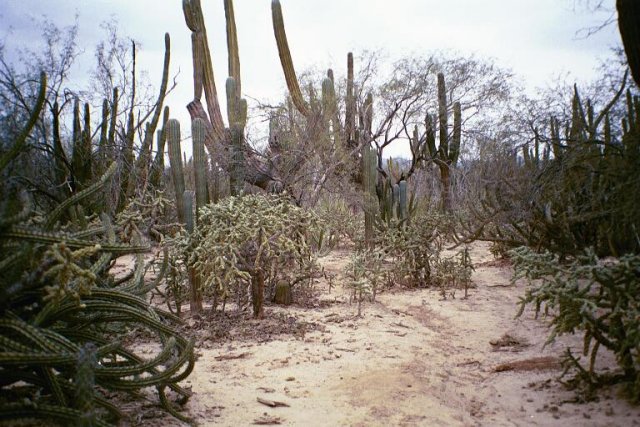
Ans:
[[[184,382],[194,392],[185,413],[203,426],[640,425],[640,408],[616,390],[576,403],[555,380],[557,358],[567,346],[581,348],[580,340],[562,337],[543,349],[544,320],[532,312],[514,318],[524,285],[509,287],[509,266],[487,248],[472,247],[476,288],[467,299],[460,291],[447,300],[434,290],[387,291],[358,318],[340,286],[345,250],[321,260],[337,276],[331,289],[324,280],[316,285],[315,307],[270,305],[262,321],[227,319],[255,335],[221,336],[212,327],[220,319],[191,319],[201,333],[195,371]],[[518,361],[526,362],[496,372]],[[613,369],[610,357],[601,363]],[[181,425],[151,414],[142,423]]]

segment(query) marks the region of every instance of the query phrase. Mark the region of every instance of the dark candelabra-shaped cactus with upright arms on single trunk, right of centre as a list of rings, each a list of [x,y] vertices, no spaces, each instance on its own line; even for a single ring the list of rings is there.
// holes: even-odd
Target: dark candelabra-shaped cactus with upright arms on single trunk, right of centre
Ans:
[[[429,154],[440,168],[440,182],[442,183],[442,208],[451,210],[451,168],[458,162],[460,154],[460,139],[462,134],[462,114],[460,103],[453,104],[453,133],[449,134],[449,112],[447,107],[447,90],[444,75],[438,73],[438,122],[440,145],[436,147],[433,119],[427,114],[425,125],[427,128],[426,143]]]

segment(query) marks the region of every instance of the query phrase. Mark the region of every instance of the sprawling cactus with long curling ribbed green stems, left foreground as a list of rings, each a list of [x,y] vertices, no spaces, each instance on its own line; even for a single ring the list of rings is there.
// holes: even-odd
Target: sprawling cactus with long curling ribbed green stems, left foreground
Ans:
[[[6,178],[0,189],[16,196],[0,207],[0,419],[111,425],[127,416],[110,401],[113,393],[155,387],[161,405],[186,420],[167,390],[189,397],[178,382],[193,369],[193,342],[172,326],[177,318],[143,299],[165,268],[146,284],[150,265],[140,254],[148,247],[119,243],[108,216],[85,217],[77,208],[104,191],[116,163],[44,216],[34,212],[29,189],[6,171],[41,112],[45,81],[25,129],[0,157]],[[116,278],[112,261],[125,254],[137,254],[135,271]],[[133,329],[155,335],[155,357],[141,358],[122,338]]]

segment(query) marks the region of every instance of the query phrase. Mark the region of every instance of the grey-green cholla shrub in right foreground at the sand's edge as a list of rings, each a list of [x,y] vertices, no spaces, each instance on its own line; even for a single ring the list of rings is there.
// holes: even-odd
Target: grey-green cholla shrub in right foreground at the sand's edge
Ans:
[[[565,364],[576,375],[573,383],[587,391],[607,381],[624,382],[634,401],[640,400],[640,255],[599,259],[586,250],[562,263],[558,255],[536,253],[525,247],[513,250],[513,280],[524,278],[529,288],[520,301],[536,314],[551,316],[551,335],[578,333],[584,337],[583,356],[567,349]],[[605,376],[595,371],[600,347],[615,354],[622,374]]]

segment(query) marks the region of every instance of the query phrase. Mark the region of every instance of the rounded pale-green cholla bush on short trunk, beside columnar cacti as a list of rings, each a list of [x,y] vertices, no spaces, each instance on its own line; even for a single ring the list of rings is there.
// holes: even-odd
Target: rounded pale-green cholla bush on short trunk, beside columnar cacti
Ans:
[[[242,305],[250,289],[254,315],[261,316],[265,292],[272,294],[277,283],[295,287],[310,280],[315,261],[309,236],[317,224],[286,195],[234,196],[202,208],[194,232],[168,244],[174,257],[201,275],[214,305],[230,296]]]

